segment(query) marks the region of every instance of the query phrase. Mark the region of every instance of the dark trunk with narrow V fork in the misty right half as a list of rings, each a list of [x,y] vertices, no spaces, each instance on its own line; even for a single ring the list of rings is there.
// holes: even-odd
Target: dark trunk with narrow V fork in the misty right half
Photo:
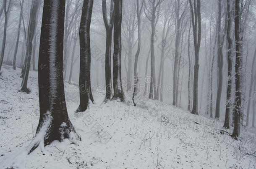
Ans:
[[[195,48],[195,65],[194,65],[194,82],[193,82],[193,108],[191,113],[198,114],[198,74],[199,74],[199,50],[201,43],[201,1],[194,0],[194,3],[189,0],[193,37],[194,37],[194,48]]]

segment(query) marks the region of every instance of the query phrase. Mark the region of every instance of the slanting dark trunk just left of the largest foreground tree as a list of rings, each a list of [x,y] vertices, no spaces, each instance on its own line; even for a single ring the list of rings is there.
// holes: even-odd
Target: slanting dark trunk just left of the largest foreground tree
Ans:
[[[29,89],[27,88],[28,78],[29,78],[29,69],[30,69],[30,61],[31,61],[31,54],[32,54],[32,47],[33,47],[33,38],[36,28],[36,18],[37,18],[37,10],[39,6],[38,0],[33,0],[30,10],[30,17],[29,17],[29,27],[28,27],[28,39],[27,39],[27,49],[26,49],[26,62],[24,68],[24,76],[21,83],[21,91],[30,93]]]

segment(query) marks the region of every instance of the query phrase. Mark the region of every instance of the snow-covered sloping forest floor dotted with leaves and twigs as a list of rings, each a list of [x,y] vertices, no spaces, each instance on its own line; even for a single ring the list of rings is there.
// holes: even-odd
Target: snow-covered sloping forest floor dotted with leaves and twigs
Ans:
[[[37,72],[29,73],[30,94],[19,92],[21,70],[3,65],[0,75],[0,169],[188,169],[256,168],[256,131],[241,127],[239,141],[223,122],[196,116],[159,101],[132,106],[96,104],[75,114],[78,87],[65,83],[68,115],[81,141],[52,142],[26,155],[39,121]]]

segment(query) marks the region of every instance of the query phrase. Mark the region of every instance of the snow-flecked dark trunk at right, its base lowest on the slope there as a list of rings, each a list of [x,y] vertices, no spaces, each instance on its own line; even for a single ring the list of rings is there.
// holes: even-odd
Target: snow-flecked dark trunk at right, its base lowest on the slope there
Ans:
[[[235,0],[235,122],[232,137],[238,139],[240,134],[241,115],[241,74],[242,74],[242,45],[240,43],[240,0]]]

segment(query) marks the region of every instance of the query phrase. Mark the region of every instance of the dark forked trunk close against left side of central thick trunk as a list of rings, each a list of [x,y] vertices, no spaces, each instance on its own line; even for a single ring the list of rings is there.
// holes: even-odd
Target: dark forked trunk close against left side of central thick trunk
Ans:
[[[102,0],[102,14],[104,25],[106,28],[106,51],[105,51],[105,80],[106,80],[106,96],[105,102],[112,97],[112,78],[111,78],[111,48],[112,48],[112,31],[114,25],[114,3],[111,0],[110,22],[107,20],[106,0]]]

